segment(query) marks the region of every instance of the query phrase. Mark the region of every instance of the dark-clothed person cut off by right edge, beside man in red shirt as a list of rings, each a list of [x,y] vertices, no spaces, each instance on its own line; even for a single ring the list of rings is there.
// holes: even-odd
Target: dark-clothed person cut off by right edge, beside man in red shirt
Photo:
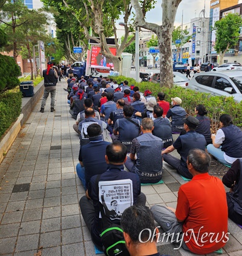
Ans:
[[[223,184],[231,190],[226,193],[229,218],[242,226],[242,160],[237,159],[223,177]]]

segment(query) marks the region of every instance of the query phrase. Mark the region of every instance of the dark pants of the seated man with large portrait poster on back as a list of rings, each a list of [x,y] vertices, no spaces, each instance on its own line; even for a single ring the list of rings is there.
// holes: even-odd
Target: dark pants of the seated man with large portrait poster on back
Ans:
[[[145,206],[145,203],[146,203],[146,196],[145,196],[145,194],[143,194],[141,192],[137,198],[137,204],[142,204],[143,206]],[[91,232],[93,223],[94,223],[94,217],[95,217],[93,201],[89,200],[84,195],[82,198],[80,198],[79,204],[80,204],[80,211],[82,212],[82,217],[83,217],[85,223],[87,224],[88,230],[91,233],[91,238],[93,240],[93,243],[97,246],[98,249],[102,250],[102,248],[100,248],[100,245],[95,242],[95,240],[97,240],[97,238],[93,238],[92,232]]]

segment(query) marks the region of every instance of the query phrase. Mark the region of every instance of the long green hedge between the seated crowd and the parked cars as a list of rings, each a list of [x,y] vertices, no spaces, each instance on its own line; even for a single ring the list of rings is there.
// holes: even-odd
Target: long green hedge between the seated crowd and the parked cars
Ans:
[[[231,115],[233,123],[236,126],[242,127],[242,101],[236,103],[232,96],[211,96],[209,93],[195,92],[194,90],[184,89],[179,86],[174,86],[169,89],[167,87],[160,87],[159,84],[151,82],[137,83],[135,79],[126,78],[125,76],[114,76],[113,79],[118,83],[127,80],[129,85],[134,84],[134,86],[138,86],[140,92],[149,89],[154,96],[157,96],[159,92],[164,92],[166,94],[165,100],[169,102],[171,102],[171,98],[177,96],[182,99],[181,107],[183,107],[189,115],[195,115],[195,106],[203,104],[208,111],[208,117],[211,118],[212,128],[215,130],[218,129],[218,120],[223,113]]]

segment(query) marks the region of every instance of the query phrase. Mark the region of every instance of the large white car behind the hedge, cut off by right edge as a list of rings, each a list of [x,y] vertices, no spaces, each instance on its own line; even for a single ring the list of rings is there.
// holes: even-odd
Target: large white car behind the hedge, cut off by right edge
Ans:
[[[242,100],[241,70],[223,70],[221,72],[197,73],[188,82],[187,89],[196,92],[211,93],[212,96],[233,96],[234,100]]]

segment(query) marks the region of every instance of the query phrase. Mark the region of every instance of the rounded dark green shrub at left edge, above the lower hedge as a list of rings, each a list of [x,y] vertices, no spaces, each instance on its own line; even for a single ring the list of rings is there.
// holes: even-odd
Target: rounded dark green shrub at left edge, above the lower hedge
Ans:
[[[21,72],[15,60],[10,56],[0,54],[0,67],[0,92],[19,86],[18,76]]]

